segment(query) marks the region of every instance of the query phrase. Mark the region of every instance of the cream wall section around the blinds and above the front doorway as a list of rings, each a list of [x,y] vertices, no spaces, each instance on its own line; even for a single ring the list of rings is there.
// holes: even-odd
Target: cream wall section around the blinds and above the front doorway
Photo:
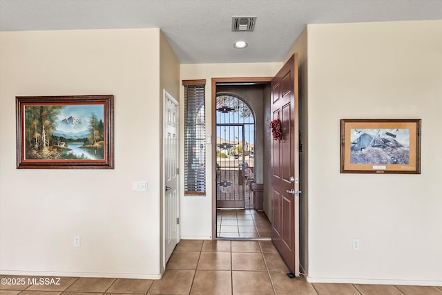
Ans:
[[[256,63],[256,64],[182,64],[180,79],[206,79],[206,134],[212,135],[211,120],[211,95],[212,78],[220,77],[272,77],[282,63]],[[180,89],[181,97],[184,87]],[[183,101],[183,97],[181,98]],[[184,109],[180,114],[180,136],[184,138]],[[213,140],[213,137],[212,137]],[[212,146],[206,145],[206,196],[184,196],[184,177],[181,175],[181,237],[182,238],[212,238]],[[184,149],[180,152],[181,164],[184,166]]]

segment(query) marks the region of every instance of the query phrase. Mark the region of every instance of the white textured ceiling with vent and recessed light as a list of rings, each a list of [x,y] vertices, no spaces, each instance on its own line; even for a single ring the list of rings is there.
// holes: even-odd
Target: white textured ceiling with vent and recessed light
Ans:
[[[232,32],[238,15],[255,30]],[[307,23],[431,19],[442,0],[0,0],[0,30],[160,28],[183,64],[282,61]]]

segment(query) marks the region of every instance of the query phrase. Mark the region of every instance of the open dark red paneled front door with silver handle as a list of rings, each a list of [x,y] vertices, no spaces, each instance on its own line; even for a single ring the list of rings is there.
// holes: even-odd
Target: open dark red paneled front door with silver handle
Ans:
[[[282,122],[282,140],[271,148],[271,238],[299,276],[298,54],[271,81],[271,113]]]

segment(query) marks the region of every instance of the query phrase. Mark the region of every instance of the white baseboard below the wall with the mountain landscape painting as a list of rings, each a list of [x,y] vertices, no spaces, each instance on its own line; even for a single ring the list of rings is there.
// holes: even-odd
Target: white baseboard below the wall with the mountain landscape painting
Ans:
[[[102,273],[102,272],[38,272],[38,271],[17,271],[0,269],[0,274],[6,276],[54,276],[64,277],[73,276],[80,278],[142,278],[150,280],[159,280],[162,274],[122,274],[122,273]]]

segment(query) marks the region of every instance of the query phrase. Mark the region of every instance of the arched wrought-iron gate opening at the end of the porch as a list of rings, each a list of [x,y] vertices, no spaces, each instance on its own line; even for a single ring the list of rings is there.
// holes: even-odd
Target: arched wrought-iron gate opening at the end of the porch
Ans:
[[[240,97],[216,97],[216,184],[218,208],[253,208],[255,117]]]

